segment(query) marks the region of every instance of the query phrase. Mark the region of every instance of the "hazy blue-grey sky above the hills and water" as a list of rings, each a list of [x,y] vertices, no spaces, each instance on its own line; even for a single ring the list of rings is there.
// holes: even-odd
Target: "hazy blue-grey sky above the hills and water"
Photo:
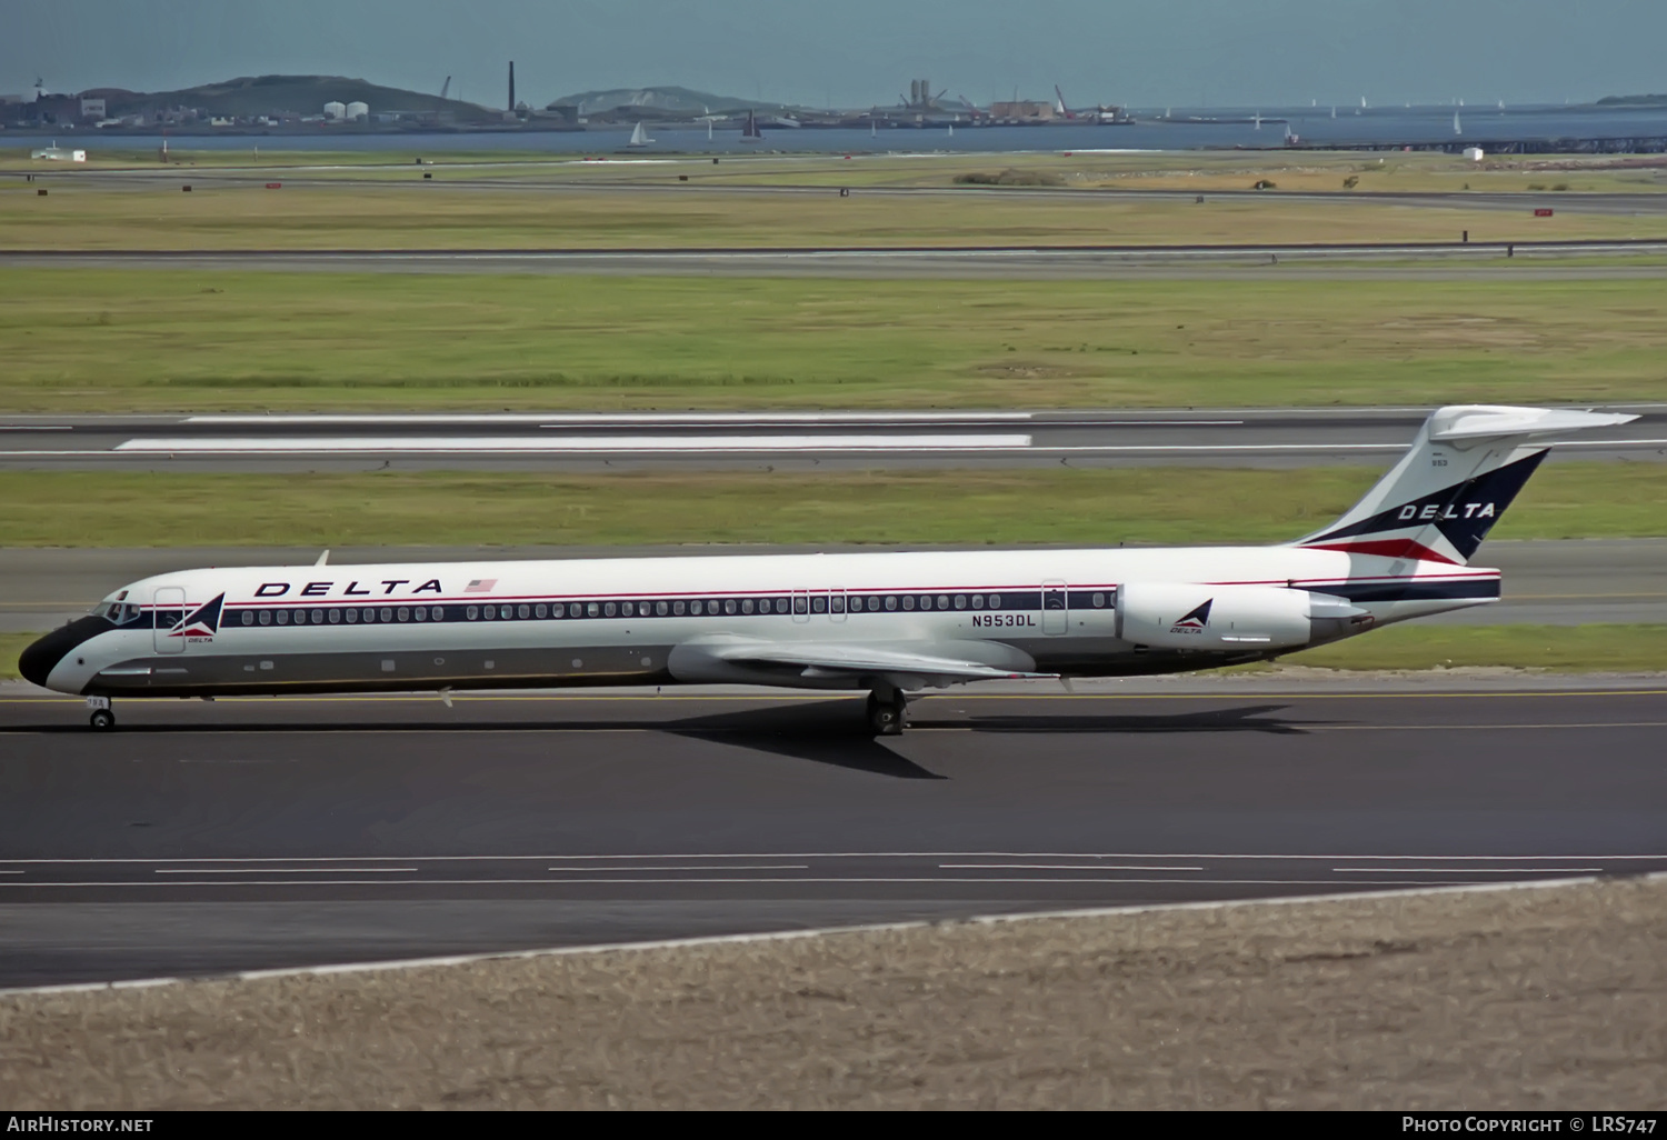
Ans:
[[[867,107],[1562,102],[1667,92],[1667,0],[3,0],[0,92],[332,73],[502,107],[598,87]]]

